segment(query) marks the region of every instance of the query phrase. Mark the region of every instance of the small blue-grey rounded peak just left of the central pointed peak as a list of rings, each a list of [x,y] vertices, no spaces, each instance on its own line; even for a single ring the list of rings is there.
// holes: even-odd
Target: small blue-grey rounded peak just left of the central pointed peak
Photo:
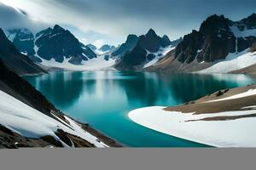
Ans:
[[[122,43],[119,48],[113,51],[112,56],[124,55],[128,51],[131,51],[137,44],[138,37],[136,35],[129,35],[125,41]]]

